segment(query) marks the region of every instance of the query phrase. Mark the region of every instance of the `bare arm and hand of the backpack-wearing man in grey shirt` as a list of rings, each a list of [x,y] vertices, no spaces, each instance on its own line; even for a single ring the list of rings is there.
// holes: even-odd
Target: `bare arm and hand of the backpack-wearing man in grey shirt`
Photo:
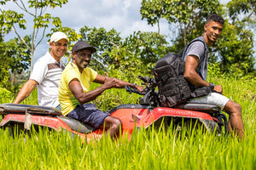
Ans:
[[[197,87],[210,86],[209,82],[204,81],[196,72],[199,59],[194,55],[188,55],[185,62],[184,78]],[[214,86],[213,90],[222,94],[221,85]]]

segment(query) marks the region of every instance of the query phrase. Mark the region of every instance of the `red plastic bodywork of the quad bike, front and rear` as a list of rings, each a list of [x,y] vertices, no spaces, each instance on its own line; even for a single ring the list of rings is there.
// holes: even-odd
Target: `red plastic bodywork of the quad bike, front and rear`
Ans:
[[[153,111],[149,109],[118,109],[117,111],[113,111],[111,116],[119,118],[122,122],[122,133],[128,133],[128,139],[131,138],[131,133],[133,132],[134,127],[149,127],[151,124],[156,122],[160,117],[164,116],[172,116],[172,117],[184,117],[184,118],[195,118],[195,119],[204,119],[208,121],[212,121],[212,116],[207,113],[199,112],[199,111],[187,111],[181,109],[172,109],[172,108],[163,108],[157,107]],[[21,114],[8,114],[4,117],[3,121],[0,123],[0,126],[9,123],[9,122],[25,122],[26,115]],[[31,115],[30,118],[32,124],[42,126],[42,127],[50,127],[60,132],[61,129],[66,129],[69,132],[79,134],[82,139],[87,139],[89,142],[91,139],[101,139],[102,138],[102,129],[97,129],[93,133],[78,133],[73,131],[67,124],[56,116],[36,116]]]

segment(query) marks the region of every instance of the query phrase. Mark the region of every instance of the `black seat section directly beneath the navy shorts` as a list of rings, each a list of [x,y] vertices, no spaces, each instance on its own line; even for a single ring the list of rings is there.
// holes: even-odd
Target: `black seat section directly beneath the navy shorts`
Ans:
[[[65,122],[73,131],[79,133],[91,133],[96,130],[96,128],[92,127],[90,124],[79,122],[78,120],[71,119],[67,116],[57,116],[57,118]]]

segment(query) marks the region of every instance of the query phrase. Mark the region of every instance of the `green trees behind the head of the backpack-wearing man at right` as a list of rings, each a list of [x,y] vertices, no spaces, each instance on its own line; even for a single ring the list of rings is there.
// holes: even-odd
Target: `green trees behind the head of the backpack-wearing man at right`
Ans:
[[[248,4],[252,8],[248,8]],[[255,2],[235,0],[228,3],[230,17],[237,18],[237,14],[255,14]],[[240,8],[241,7],[241,8]],[[224,16],[224,8],[214,1],[177,1],[177,0],[143,0],[141,14],[148,24],[154,25],[160,19],[166,19],[172,25],[177,25],[179,34],[174,38],[172,51],[178,52],[188,42],[203,33],[203,26],[207,16],[213,13]],[[248,18],[247,18],[248,19]],[[223,35],[210,50],[210,62],[218,62],[220,70],[244,76],[253,69],[253,34],[241,22],[229,24],[225,20]]]

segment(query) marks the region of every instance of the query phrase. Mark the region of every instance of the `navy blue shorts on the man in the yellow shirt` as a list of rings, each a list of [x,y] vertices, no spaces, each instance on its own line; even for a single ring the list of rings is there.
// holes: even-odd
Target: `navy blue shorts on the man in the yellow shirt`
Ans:
[[[93,127],[100,127],[104,119],[110,114],[96,108],[94,104],[77,105],[73,111],[70,111],[67,116],[79,120],[81,122],[89,123]]]

